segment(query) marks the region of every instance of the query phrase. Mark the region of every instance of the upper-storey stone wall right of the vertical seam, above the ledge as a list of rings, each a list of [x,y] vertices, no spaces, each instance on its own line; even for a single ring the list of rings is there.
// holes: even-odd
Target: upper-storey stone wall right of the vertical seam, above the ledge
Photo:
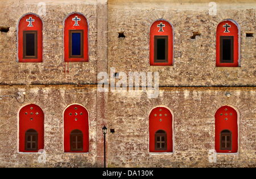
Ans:
[[[209,15],[209,3],[115,2],[109,2],[109,71],[158,71],[159,86],[255,85],[255,37],[246,37],[255,31],[253,6],[217,3],[217,15]],[[150,66],[150,27],[158,19],[174,27],[174,66]],[[216,67],[216,29],[224,19],[240,24],[241,67]],[[118,32],[125,38],[118,38]],[[191,39],[193,32],[201,35]]]

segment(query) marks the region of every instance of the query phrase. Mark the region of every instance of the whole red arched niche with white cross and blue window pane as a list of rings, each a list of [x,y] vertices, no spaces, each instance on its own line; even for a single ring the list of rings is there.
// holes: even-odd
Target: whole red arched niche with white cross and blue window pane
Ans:
[[[88,62],[88,22],[84,15],[73,13],[64,20],[64,61]]]

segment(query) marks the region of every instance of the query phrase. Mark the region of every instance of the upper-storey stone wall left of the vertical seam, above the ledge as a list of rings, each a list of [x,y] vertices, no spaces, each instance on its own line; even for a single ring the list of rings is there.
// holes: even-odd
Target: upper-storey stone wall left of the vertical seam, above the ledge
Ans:
[[[1,1],[1,84],[96,84],[97,83],[97,1],[94,3],[46,2],[44,14],[36,1]],[[43,21],[43,63],[17,63],[18,20],[27,13]],[[64,62],[63,21],[72,12],[86,16],[89,25],[89,62]],[[8,75],[6,75],[8,74]]]

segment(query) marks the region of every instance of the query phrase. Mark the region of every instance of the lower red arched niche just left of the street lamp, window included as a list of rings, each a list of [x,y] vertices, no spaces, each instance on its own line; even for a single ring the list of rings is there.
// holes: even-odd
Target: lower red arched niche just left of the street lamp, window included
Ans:
[[[64,111],[64,152],[89,152],[89,114],[79,104]]]

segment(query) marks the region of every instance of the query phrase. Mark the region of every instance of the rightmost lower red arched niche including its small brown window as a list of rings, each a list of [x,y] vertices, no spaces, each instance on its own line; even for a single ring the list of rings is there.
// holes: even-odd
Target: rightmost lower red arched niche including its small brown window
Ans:
[[[215,150],[218,153],[238,152],[238,114],[230,106],[215,113]]]

